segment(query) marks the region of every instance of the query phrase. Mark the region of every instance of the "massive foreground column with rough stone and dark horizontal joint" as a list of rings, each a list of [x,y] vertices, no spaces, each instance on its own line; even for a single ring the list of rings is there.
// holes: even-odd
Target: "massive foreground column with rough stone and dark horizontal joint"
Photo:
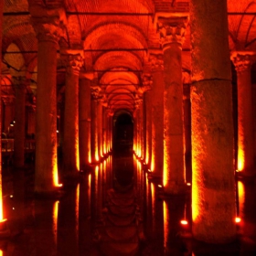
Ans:
[[[236,237],[227,1],[190,4],[192,232],[225,243]]]

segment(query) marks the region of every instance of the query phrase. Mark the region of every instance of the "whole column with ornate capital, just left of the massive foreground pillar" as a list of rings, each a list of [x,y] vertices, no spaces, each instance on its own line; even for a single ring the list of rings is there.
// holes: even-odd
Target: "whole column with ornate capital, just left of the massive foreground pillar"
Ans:
[[[185,192],[183,83],[181,51],[187,17],[158,17],[164,51],[164,187],[165,193]]]

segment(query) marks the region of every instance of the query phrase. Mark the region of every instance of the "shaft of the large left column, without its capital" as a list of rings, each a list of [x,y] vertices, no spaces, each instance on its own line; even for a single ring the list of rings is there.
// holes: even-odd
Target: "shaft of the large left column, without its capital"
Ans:
[[[57,41],[38,40],[37,116],[36,116],[36,192],[55,187],[57,171]],[[48,74],[46,76],[46,74]]]

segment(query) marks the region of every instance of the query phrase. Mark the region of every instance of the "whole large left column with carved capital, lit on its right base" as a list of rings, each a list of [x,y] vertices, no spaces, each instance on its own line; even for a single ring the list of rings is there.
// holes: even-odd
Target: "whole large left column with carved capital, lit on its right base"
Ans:
[[[37,6],[29,11],[38,39],[35,191],[47,193],[59,185],[56,70],[60,27],[66,16],[63,9],[52,9],[51,17],[47,17],[47,9],[42,9],[45,16],[39,16]]]

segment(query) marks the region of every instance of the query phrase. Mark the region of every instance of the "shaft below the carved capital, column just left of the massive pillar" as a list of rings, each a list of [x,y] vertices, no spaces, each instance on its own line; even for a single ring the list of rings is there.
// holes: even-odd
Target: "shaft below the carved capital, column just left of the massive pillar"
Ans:
[[[183,84],[181,49],[177,43],[164,49],[164,187],[166,193],[185,189],[183,142]]]

